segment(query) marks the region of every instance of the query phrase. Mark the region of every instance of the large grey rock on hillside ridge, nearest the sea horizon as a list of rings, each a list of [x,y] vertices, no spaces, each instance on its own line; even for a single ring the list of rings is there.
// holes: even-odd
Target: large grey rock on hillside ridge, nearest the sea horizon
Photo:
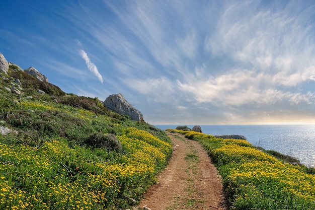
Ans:
[[[103,104],[109,110],[130,116],[132,120],[143,121],[142,113],[131,106],[120,93],[108,96]]]

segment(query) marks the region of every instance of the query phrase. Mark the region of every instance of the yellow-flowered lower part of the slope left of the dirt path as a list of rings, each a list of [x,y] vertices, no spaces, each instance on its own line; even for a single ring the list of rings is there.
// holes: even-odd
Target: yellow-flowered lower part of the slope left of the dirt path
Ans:
[[[0,209],[111,209],[139,199],[171,145],[132,127],[118,139],[125,154],[69,147],[62,138],[39,148],[0,144]]]

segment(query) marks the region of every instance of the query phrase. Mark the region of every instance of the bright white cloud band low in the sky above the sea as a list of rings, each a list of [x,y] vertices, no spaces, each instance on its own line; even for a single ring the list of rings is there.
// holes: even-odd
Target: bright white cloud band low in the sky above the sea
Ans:
[[[272,80],[273,77],[276,79]],[[314,103],[314,93],[302,94],[298,91],[290,92],[278,89],[279,85],[296,85],[304,78],[307,77],[293,74],[286,78],[280,77],[278,74],[270,76],[238,69],[216,78],[204,79],[190,76],[184,82],[178,80],[177,84],[182,91],[190,93],[188,97],[194,98],[197,103],[212,103],[217,106],[272,105],[283,101],[290,104]]]

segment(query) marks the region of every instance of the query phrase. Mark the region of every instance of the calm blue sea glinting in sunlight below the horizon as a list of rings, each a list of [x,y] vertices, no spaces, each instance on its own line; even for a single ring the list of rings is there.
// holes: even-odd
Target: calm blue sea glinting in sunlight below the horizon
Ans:
[[[165,130],[178,125],[154,125]],[[187,125],[192,128],[194,125]],[[295,157],[307,167],[315,167],[315,125],[200,125],[202,132],[244,135],[254,146]]]

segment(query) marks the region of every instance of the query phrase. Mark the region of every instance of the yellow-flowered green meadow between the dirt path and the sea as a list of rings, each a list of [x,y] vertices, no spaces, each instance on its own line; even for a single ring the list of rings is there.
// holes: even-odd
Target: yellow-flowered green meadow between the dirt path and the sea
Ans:
[[[315,175],[249,142],[180,131],[203,145],[222,178],[229,209],[315,209]]]

